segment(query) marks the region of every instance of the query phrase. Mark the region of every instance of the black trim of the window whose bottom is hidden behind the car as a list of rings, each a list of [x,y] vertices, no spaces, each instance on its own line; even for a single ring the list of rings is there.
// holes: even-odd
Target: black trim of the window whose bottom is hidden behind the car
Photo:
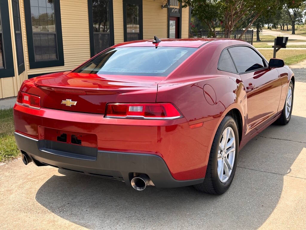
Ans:
[[[114,41],[114,13],[113,13],[113,0],[108,1],[108,13],[110,20],[110,46],[115,44]],[[88,22],[89,22],[89,44],[90,44],[90,57],[95,56],[94,44],[94,29],[93,29],[93,15],[92,15],[92,0],[88,0]],[[103,50],[101,50],[102,52]]]

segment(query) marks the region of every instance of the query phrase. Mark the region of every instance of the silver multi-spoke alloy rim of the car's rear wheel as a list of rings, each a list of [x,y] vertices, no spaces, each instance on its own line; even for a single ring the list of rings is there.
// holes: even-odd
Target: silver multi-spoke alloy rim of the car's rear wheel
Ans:
[[[218,176],[224,183],[230,178],[235,161],[236,141],[231,127],[227,127],[223,133],[218,148]]]

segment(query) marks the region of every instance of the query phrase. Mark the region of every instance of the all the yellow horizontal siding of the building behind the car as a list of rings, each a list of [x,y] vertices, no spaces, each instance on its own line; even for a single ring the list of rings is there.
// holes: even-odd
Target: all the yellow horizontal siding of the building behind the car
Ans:
[[[69,71],[90,58],[90,40],[87,0],[60,0],[64,66],[30,69],[28,61],[28,44],[24,17],[24,0],[19,0],[25,71],[18,75],[16,46],[13,25],[12,0],[9,4],[10,27],[13,48],[15,76],[0,79],[0,98],[17,96],[22,82],[28,75],[44,74],[58,71]],[[180,3],[181,4],[181,3]],[[172,6],[176,7],[176,6]],[[178,7],[178,6],[177,6]],[[181,10],[181,37],[187,38],[189,33],[189,9]],[[114,44],[124,41],[123,2],[113,0],[114,12]],[[167,38],[168,10],[161,8],[161,2],[143,0],[143,38],[153,39],[154,36]]]

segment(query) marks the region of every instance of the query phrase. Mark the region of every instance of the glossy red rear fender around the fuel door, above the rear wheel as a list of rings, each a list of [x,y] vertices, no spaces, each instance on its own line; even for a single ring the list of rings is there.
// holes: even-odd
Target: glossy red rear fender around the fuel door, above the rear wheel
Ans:
[[[209,85],[208,90],[203,90],[205,85]],[[208,99],[204,96],[205,93],[210,94]],[[209,100],[211,98],[214,103]],[[192,129],[192,132],[193,138],[207,147],[208,155],[216,130],[231,109],[238,109],[241,113],[242,138],[245,136],[248,106],[244,86],[239,79],[228,76],[202,76],[190,78],[189,81],[178,79],[160,82],[156,102],[173,102],[189,125],[203,122],[201,128]]]

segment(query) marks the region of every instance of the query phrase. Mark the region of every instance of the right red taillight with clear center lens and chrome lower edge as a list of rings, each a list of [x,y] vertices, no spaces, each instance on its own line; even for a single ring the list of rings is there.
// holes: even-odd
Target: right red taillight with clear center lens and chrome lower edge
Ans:
[[[108,104],[105,117],[138,119],[176,119],[182,117],[171,103]]]

